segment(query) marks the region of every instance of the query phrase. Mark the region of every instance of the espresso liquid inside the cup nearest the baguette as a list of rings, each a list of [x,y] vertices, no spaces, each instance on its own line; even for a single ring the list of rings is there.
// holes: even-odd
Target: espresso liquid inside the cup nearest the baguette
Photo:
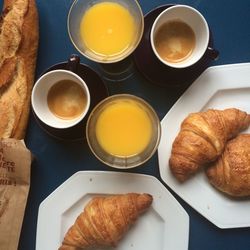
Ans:
[[[87,106],[87,96],[82,87],[72,80],[56,82],[47,97],[50,111],[65,120],[80,116]]]

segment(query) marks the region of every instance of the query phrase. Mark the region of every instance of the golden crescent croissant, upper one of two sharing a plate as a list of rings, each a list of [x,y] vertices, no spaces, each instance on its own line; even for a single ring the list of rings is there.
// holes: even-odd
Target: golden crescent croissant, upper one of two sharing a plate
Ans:
[[[191,113],[175,138],[169,166],[179,181],[185,181],[201,166],[215,161],[226,142],[250,124],[250,115],[239,109],[209,109]]]

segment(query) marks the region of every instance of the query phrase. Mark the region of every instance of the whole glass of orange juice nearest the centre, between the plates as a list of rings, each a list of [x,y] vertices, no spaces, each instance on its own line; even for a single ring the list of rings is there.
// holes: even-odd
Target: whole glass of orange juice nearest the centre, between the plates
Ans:
[[[114,168],[132,168],[155,153],[161,135],[159,118],[142,98],[117,94],[100,102],[86,126],[90,149]]]

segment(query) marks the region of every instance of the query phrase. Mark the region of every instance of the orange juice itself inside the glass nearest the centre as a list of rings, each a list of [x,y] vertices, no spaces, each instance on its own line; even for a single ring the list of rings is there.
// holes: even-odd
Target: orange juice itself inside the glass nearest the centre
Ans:
[[[108,105],[98,117],[96,137],[109,154],[128,157],[147,147],[152,129],[151,119],[140,104],[119,100]]]

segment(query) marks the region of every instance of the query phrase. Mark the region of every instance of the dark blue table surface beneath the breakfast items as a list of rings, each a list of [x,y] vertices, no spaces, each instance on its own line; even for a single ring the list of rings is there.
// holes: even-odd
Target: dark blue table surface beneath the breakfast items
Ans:
[[[67,60],[72,53],[77,53],[69,40],[66,25],[67,13],[72,2],[72,0],[37,0],[40,19],[40,44],[36,78],[46,68]],[[207,19],[213,33],[214,45],[220,51],[219,59],[211,63],[210,66],[250,62],[250,1],[187,0],[170,2],[140,0],[139,2],[144,14],[167,3],[187,4],[197,8]],[[2,4],[3,0],[0,0],[0,7],[2,7]],[[98,70],[95,63],[82,56],[81,62]],[[183,93],[183,89],[170,90],[151,84],[136,70],[133,76],[126,81],[117,84],[108,83],[108,88],[110,94],[123,92],[143,97],[155,108],[160,119],[164,117]],[[35,155],[35,160],[32,164],[31,187],[19,249],[33,250],[35,249],[39,204],[77,171],[111,171],[111,169],[92,155],[85,140],[82,142],[56,140],[47,135],[37,125],[32,115],[30,115],[25,141],[27,147]],[[150,174],[160,178],[157,154],[146,164],[130,170],[130,172]],[[174,193],[173,195],[190,216],[190,250],[250,249],[249,228],[219,229],[177,195]]]

